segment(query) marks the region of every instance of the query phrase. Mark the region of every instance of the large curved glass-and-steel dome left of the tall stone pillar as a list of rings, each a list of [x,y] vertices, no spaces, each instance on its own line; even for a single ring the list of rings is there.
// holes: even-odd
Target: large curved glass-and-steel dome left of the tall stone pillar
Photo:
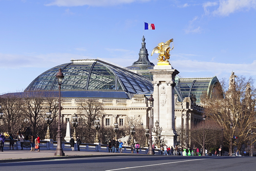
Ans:
[[[71,60],[51,68],[32,81],[25,91],[58,90],[56,74],[62,68],[63,90],[112,90],[127,93],[153,92],[151,80],[99,59]]]

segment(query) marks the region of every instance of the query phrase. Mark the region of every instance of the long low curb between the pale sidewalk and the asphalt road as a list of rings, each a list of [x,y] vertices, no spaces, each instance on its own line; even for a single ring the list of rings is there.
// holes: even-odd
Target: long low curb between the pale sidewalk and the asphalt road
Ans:
[[[43,160],[56,160],[56,159],[68,159],[68,158],[88,158],[88,157],[109,157],[109,156],[127,156],[132,154],[102,154],[102,155],[80,155],[80,156],[56,156],[56,157],[39,157],[39,158],[16,158],[16,159],[2,159],[0,163],[10,162],[30,162],[30,161],[43,161]],[[137,154],[136,154],[137,155]],[[141,156],[147,156],[148,154],[139,154]]]

